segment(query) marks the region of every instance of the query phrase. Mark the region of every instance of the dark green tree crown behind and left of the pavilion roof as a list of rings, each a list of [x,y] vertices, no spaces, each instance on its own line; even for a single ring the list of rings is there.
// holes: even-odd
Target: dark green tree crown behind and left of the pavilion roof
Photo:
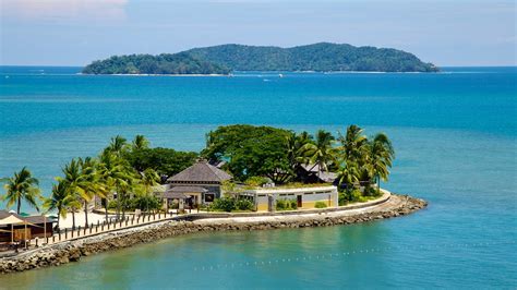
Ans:
[[[171,148],[142,148],[127,152],[124,158],[137,171],[153,169],[160,176],[171,177],[195,162],[197,154]]]

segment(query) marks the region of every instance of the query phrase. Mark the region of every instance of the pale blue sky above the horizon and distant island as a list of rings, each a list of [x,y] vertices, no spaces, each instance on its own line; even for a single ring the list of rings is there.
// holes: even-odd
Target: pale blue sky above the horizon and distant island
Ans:
[[[0,64],[85,65],[221,44],[390,47],[436,65],[517,65],[515,1],[0,0]]]

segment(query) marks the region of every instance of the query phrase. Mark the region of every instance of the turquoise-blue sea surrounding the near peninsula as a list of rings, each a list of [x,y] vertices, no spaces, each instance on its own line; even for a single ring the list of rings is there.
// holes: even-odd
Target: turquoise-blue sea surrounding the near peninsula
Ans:
[[[442,73],[86,76],[0,67],[0,176],[49,193],[109,137],[199,150],[220,124],[386,132],[393,192],[429,201],[364,225],[203,233],[0,277],[0,289],[517,288],[517,68]],[[31,210],[29,208],[25,208]],[[330,255],[332,254],[332,255]]]

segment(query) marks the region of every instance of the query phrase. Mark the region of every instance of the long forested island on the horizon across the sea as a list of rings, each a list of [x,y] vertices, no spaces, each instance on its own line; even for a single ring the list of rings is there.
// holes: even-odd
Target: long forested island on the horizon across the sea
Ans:
[[[432,63],[393,48],[320,43],[291,48],[220,45],[178,53],[115,56],[84,74],[230,74],[233,71],[437,72]]]

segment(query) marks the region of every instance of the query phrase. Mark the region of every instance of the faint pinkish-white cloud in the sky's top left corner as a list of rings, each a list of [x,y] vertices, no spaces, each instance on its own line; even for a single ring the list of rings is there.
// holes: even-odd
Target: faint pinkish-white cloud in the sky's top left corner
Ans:
[[[128,0],[0,0],[2,17],[17,20],[125,19]]]

